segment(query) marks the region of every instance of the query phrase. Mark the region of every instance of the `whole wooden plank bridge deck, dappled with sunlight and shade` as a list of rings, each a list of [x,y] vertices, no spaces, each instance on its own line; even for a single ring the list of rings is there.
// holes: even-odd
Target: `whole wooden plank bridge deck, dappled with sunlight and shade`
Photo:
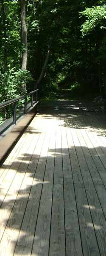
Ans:
[[[106,256],[105,114],[38,113],[0,184],[0,256]]]

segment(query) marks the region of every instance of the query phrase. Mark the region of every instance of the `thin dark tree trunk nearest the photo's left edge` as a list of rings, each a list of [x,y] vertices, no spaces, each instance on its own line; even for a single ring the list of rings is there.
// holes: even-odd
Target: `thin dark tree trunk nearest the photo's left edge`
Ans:
[[[3,14],[3,30],[4,30],[4,69],[7,70],[7,48],[6,48],[6,20],[5,20],[5,10],[4,1],[1,0],[2,4],[2,14]]]

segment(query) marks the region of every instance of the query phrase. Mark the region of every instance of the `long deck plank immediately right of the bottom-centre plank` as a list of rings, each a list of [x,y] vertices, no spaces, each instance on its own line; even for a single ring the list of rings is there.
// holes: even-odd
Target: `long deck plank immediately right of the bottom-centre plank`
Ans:
[[[61,118],[61,140],[62,140],[62,160],[64,175],[64,211],[65,211],[65,236],[66,255],[82,256],[81,236],[78,223],[78,213],[75,201],[75,191],[73,175],[70,163],[69,149],[67,144],[64,117]]]

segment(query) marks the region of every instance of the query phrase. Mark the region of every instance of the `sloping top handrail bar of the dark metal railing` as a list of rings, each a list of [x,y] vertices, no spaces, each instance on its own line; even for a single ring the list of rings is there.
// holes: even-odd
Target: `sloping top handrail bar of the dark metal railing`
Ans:
[[[25,97],[30,96],[31,94],[35,93],[35,92],[38,91],[38,90],[39,90],[39,89],[33,90],[33,91],[31,91],[30,93],[26,93],[25,95],[22,95],[22,96],[20,96],[20,97],[17,97],[17,98],[14,98],[14,99],[10,99],[10,100],[8,100],[7,102],[0,103],[0,108],[3,108],[3,107],[5,107],[5,106],[8,106],[8,105],[11,104],[11,103],[17,102],[17,101],[20,100],[20,99],[24,99]]]

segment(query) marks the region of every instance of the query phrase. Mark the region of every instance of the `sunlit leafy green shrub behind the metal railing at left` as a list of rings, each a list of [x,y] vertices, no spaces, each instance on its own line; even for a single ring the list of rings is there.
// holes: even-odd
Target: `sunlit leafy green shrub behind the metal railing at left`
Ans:
[[[32,81],[32,76],[27,70],[14,71],[9,69],[0,74],[0,103],[10,99],[17,98],[25,94],[24,84]],[[27,91],[26,91],[27,92]],[[17,111],[23,106],[24,99],[17,102]],[[0,109],[0,122],[10,118],[13,115],[13,104]]]

